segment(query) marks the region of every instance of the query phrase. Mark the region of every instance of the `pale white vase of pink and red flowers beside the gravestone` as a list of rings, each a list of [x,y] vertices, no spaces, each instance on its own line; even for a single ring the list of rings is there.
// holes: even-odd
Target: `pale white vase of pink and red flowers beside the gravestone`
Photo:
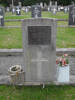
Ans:
[[[58,57],[56,59],[56,64],[58,69],[57,81],[62,83],[68,83],[70,72],[68,54],[64,54],[63,56]]]

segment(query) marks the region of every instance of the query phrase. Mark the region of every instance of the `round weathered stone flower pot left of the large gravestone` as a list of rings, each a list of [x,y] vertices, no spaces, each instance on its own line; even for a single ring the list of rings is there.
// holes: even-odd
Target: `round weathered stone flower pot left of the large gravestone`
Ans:
[[[8,69],[9,75],[11,77],[11,82],[16,85],[23,84],[25,81],[25,72],[20,65],[11,66]]]

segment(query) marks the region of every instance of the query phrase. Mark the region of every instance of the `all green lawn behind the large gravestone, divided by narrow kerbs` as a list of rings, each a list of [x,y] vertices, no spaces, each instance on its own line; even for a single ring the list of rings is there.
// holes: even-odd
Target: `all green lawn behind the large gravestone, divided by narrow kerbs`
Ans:
[[[28,14],[22,12],[22,16],[12,16],[12,13],[6,13],[5,19],[23,19],[30,18]],[[42,12],[43,17],[68,19],[68,14],[58,12],[53,15],[50,12]],[[57,25],[68,25],[66,21],[59,21]],[[22,22],[5,22],[5,26],[22,26]],[[57,48],[75,48],[75,28],[57,28],[56,37]],[[0,48],[22,48],[22,29],[21,28],[0,28]]]

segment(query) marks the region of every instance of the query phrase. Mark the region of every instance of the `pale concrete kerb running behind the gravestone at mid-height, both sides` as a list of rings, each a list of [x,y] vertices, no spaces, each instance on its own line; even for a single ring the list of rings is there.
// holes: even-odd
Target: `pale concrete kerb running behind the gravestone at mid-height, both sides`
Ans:
[[[75,56],[75,48],[57,48],[56,55],[64,53]],[[23,49],[0,49],[0,56],[20,56],[23,55]]]

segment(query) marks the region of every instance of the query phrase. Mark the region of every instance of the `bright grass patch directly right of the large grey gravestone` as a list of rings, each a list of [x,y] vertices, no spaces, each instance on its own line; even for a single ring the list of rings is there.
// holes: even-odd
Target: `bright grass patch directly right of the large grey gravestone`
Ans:
[[[58,28],[56,46],[58,48],[75,48],[75,28]]]

